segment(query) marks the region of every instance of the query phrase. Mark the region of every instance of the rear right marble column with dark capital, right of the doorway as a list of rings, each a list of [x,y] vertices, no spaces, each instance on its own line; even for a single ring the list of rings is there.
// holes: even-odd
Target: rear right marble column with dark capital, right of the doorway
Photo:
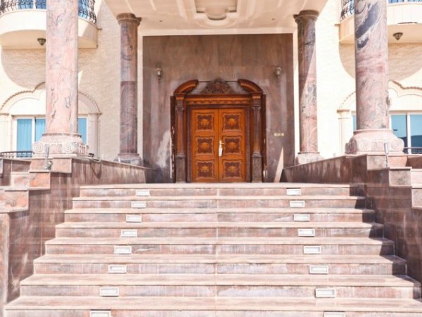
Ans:
[[[300,152],[295,164],[305,164],[321,159],[318,152],[316,112],[315,22],[318,15],[316,11],[307,10],[300,11],[294,16],[298,23],[300,110]]]

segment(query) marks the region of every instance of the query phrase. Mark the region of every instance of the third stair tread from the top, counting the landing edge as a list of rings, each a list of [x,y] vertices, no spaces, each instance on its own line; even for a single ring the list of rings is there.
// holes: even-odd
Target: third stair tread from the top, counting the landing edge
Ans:
[[[65,211],[65,214],[141,214],[141,213],[157,213],[157,214],[167,214],[167,213],[179,213],[179,214],[188,214],[188,213],[201,213],[205,214],[208,212],[212,213],[292,213],[292,214],[316,214],[316,213],[335,213],[335,214],[362,214],[368,213],[373,214],[372,209],[362,209],[362,208],[274,208],[274,207],[256,207],[256,208],[143,208],[143,209],[133,209],[133,208],[74,208],[68,209]]]

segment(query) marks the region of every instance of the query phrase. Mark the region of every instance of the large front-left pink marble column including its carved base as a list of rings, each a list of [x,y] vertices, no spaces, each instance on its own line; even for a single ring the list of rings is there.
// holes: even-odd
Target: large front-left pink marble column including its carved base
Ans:
[[[77,134],[78,0],[47,0],[46,132],[35,156],[87,154]]]

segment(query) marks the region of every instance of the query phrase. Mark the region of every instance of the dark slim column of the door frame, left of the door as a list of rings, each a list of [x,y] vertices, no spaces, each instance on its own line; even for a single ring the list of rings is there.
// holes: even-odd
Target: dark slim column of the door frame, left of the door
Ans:
[[[184,140],[184,93],[176,95],[176,182],[186,183],[186,153]]]

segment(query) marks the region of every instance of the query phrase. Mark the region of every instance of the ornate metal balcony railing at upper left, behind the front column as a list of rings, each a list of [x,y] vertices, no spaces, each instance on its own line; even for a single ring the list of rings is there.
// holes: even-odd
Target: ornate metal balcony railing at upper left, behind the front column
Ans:
[[[79,18],[96,23],[95,0],[79,0]],[[46,0],[0,0],[0,15],[18,10],[46,9]]]

